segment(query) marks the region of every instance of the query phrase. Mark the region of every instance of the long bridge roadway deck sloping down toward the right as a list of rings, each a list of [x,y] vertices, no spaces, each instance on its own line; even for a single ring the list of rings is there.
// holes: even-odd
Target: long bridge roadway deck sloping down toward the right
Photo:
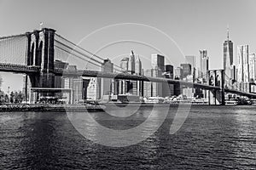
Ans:
[[[40,67],[37,66],[28,66],[28,65],[14,65],[14,64],[5,64],[0,63],[0,71],[6,72],[15,72],[22,74],[38,74],[40,72]],[[113,78],[113,79],[125,79],[125,80],[138,80],[144,82],[166,82],[170,84],[179,84],[181,86],[186,86],[189,88],[201,88],[209,90],[222,90],[220,87],[210,86],[207,84],[201,84],[197,82],[185,82],[182,80],[172,80],[164,77],[145,77],[139,75],[131,75],[127,73],[113,73],[113,72],[102,72],[102,71],[88,71],[88,70],[63,70],[55,69],[55,76],[61,77],[101,77],[101,78]],[[244,93],[238,90],[224,88],[226,93],[239,94],[247,96],[250,98],[256,98],[256,94]]]

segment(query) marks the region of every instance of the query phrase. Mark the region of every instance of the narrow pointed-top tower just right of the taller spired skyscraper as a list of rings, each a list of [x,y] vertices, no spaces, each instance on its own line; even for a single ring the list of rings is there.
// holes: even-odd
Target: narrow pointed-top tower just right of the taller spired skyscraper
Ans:
[[[142,73],[143,73],[142,61],[141,61],[140,57],[137,55],[137,58],[135,60],[135,74],[142,75]],[[134,88],[133,90],[137,90],[137,92],[133,92],[133,94],[142,96],[143,95],[143,82],[137,81],[136,88]]]

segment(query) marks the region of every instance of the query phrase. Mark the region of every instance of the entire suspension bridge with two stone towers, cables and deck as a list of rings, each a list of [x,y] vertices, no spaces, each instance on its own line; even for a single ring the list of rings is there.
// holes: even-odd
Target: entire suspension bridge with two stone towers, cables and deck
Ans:
[[[84,63],[95,66],[92,69],[73,69],[73,67],[55,65],[56,61],[82,59]],[[58,35],[55,30],[43,28],[24,34],[0,37],[0,71],[20,73],[26,75],[26,99],[32,101],[33,94],[54,95],[56,92],[73,89],[55,86],[55,80],[60,77],[100,77],[113,80],[133,80],[140,82],[159,82],[176,84],[189,88],[208,90],[212,100],[224,105],[225,94],[238,94],[250,99],[256,98],[253,92],[244,92],[238,87],[230,85],[230,78],[224,70],[211,70],[207,72],[207,83],[186,82],[166,77],[146,77],[122,71],[118,65],[114,72],[96,71],[102,67],[104,59],[90,51],[70,42]],[[89,79],[88,79],[89,80]],[[88,83],[88,82],[87,82]],[[251,83],[250,86],[253,86]],[[84,92],[86,96],[86,91]]]

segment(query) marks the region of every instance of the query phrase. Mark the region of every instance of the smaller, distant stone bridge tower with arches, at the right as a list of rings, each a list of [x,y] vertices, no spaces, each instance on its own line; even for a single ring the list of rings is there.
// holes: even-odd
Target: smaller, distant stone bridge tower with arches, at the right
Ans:
[[[225,105],[224,96],[224,70],[208,71],[209,85],[219,87],[220,90],[210,90],[209,104]]]

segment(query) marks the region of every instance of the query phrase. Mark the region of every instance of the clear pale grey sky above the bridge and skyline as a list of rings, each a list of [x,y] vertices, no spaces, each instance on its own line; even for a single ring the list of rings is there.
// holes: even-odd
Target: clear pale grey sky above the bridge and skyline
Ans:
[[[256,52],[255,11],[253,0],[0,0],[0,37],[33,31],[43,22],[116,65],[131,49],[145,69],[155,53],[175,66],[184,55],[195,55],[198,65],[199,50],[207,49],[210,69],[220,69],[227,26],[235,63],[238,45]],[[20,75],[0,75],[4,91],[21,89]]]

